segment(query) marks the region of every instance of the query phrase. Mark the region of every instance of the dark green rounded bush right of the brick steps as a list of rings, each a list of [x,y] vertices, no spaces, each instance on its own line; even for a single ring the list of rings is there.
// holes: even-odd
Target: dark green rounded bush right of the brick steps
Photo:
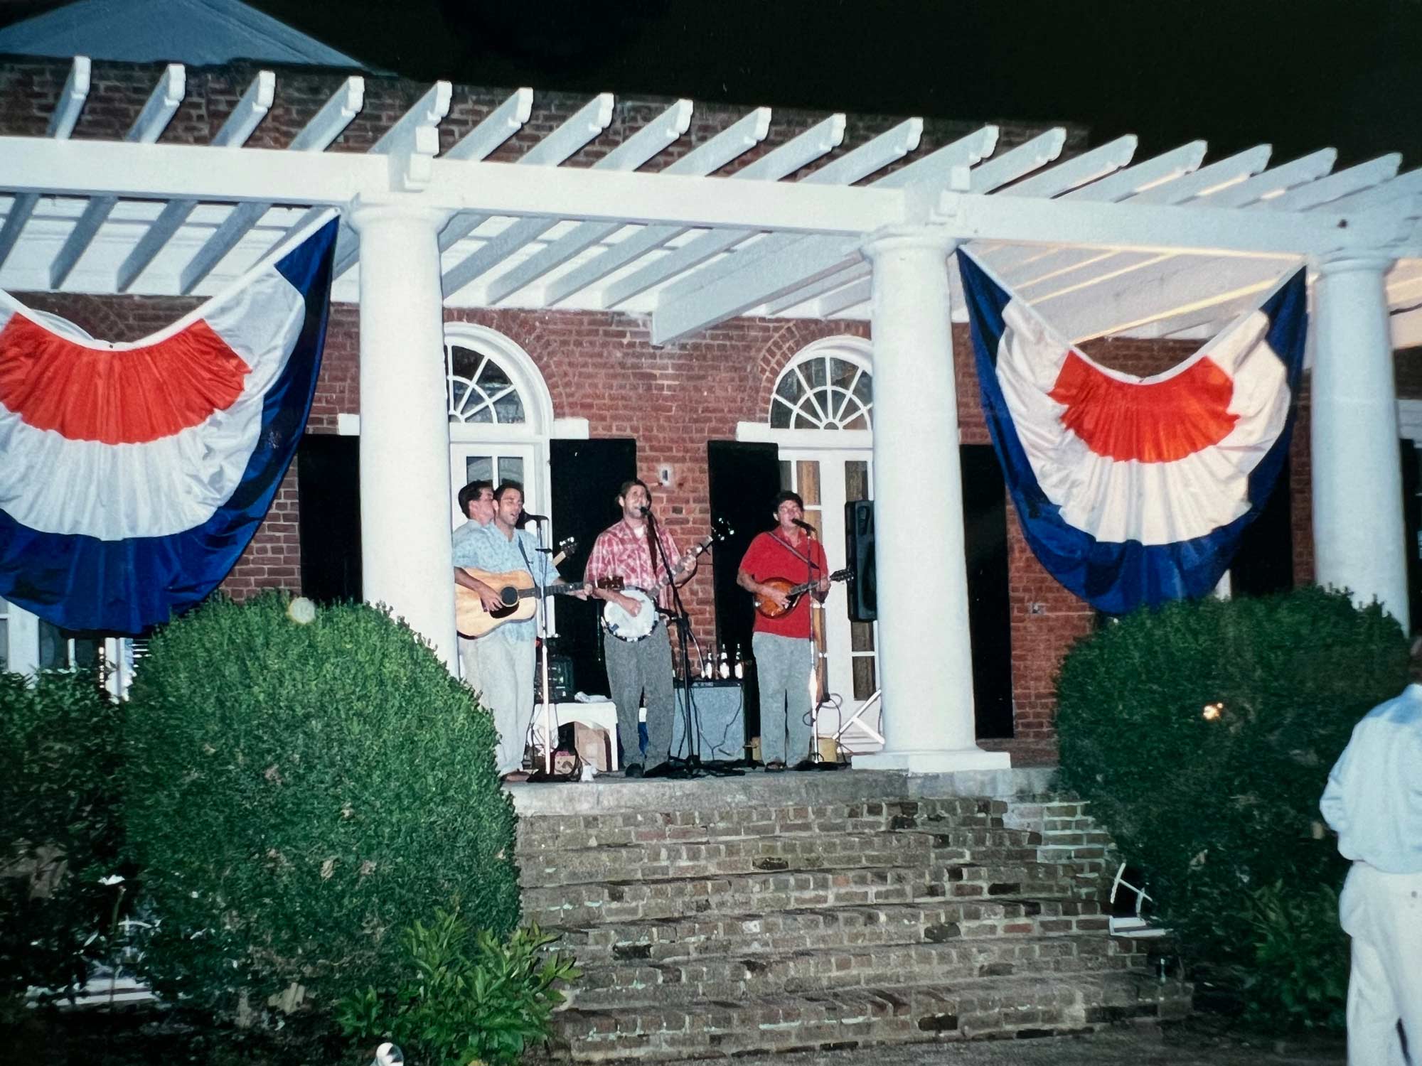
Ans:
[[[1247,974],[1251,893],[1281,883],[1298,908],[1341,885],[1318,797],[1357,721],[1406,684],[1406,661],[1381,608],[1320,588],[1136,613],[1062,664],[1061,783],[1146,871],[1182,947]]]

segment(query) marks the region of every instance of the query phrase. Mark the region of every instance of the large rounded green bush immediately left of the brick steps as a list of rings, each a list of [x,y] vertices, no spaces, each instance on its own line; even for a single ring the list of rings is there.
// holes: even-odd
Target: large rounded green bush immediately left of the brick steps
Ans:
[[[488,714],[384,613],[293,615],[212,601],[137,671],[124,809],[169,1001],[330,1009],[353,979],[394,986],[400,930],[437,907],[518,922]]]

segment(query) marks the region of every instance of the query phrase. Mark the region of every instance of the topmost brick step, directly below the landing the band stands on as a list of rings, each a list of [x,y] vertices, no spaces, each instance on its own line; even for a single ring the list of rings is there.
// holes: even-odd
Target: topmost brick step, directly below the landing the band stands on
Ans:
[[[737,837],[948,829],[1003,830],[1005,804],[984,799],[636,810],[610,814],[535,814],[519,819],[519,854],[565,849],[707,843]],[[1027,833],[1028,830],[1005,830]]]

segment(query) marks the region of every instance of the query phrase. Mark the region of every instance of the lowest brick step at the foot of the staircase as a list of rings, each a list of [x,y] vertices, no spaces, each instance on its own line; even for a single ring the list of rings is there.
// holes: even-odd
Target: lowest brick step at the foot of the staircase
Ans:
[[[1138,972],[987,978],[956,985],[884,985],[555,1015],[559,1057],[665,1062],[754,1052],[830,1050],[991,1036],[1084,1032],[1189,1012],[1189,986]]]

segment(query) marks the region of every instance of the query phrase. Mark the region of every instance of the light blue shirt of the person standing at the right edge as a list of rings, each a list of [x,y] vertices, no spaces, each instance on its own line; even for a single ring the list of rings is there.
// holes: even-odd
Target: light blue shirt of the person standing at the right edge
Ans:
[[[1318,803],[1338,851],[1389,874],[1422,873],[1422,685],[1352,728]]]

